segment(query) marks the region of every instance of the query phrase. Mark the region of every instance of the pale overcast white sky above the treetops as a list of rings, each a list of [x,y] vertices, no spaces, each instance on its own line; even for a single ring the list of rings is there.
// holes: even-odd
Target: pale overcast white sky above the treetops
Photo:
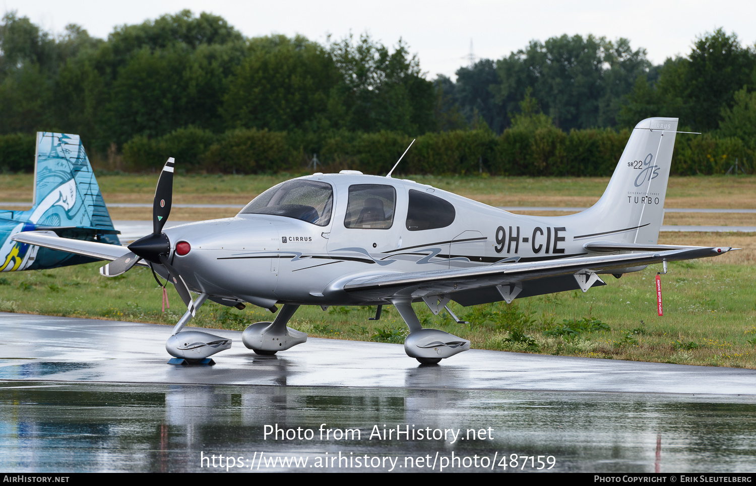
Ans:
[[[188,8],[220,15],[244,36],[271,33],[324,42],[327,34],[341,39],[370,33],[386,45],[401,37],[420,58],[428,78],[454,72],[468,61],[470,42],[477,57],[498,59],[524,48],[532,39],[544,41],[567,34],[626,37],[643,47],[653,63],[687,55],[696,36],[723,27],[737,33],[744,45],[756,41],[756,4],[742,1],[612,2],[472,0],[381,0],[380,2],[229,2],[215,0],[2,0],[5,11],[17,11],[33,23],[60,33],[78,23],[92,36],[107,38],[122,24],[141,23]]]

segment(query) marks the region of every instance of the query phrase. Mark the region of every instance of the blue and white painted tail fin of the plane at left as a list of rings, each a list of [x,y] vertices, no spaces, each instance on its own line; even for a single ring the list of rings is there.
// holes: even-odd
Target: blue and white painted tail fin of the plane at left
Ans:
[[[120,243],[79,135],[37,132],[29,223],[38,229],[66,228],[70,237],[91,234],[104,243]]]

